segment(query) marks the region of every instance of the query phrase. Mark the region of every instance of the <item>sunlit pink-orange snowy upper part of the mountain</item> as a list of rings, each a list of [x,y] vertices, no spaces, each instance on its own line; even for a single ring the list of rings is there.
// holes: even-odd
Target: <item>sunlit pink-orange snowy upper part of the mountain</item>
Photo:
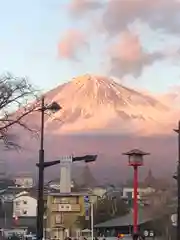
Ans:
[[[123,131],[154,133],[168,124],[170,110],[156,98],[102,76],[83,75],[47,93],[63,109],[46,120],[53,133]],[[165,117],[166,116],[166,117]],[[158,130],[159,129],[159,130]]]

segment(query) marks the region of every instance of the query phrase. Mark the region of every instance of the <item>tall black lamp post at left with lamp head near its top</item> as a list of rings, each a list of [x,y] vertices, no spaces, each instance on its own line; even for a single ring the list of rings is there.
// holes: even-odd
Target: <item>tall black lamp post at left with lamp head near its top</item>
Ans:
[[[61,107],[53,102],[45,104],[44,96],[41,99],[41,129],[40,129],[40,149],[39,149],[39,172],[38,172],[38,199],[37,199],[37,239],[43,238],[43,216],[44,216],[44,115],[46,111],[57,112]]]

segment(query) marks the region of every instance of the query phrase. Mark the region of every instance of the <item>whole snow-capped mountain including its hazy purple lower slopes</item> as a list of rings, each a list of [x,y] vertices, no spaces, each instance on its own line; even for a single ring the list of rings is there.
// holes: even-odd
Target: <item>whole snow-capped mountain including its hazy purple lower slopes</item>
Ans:
[[[98,178],[124,179],[130,170],[121,153],[140,148],[151,153],[145,166],[169,175],[176,169],[176,136],[172,129],[179,111],[169,102],[174,95],[165,99],[125,87],[112,78],[90,74],[74,78],[45,95],[47,103],[56,101],[62,107],[45,118],[45,158],[98,154],[97,163],[91,167]],[[30,114],[27,121],[39,127],[39,114]],[[11,171],[35,172],[39,140],[20,130],[17,138],[24,151],[7,151],[1,156]],[[49,169],[49,176],[54,176],[57,169],[59,172],[59,168]]]

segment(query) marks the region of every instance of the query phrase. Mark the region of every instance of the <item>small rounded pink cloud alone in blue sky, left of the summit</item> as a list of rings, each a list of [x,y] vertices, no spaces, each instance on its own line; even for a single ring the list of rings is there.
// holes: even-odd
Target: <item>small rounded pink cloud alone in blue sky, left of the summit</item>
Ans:
[[[78,30],[68,30],[58,44],[58,55],[61,58],[77,60],[77,53],[87,46],[85,35]]]

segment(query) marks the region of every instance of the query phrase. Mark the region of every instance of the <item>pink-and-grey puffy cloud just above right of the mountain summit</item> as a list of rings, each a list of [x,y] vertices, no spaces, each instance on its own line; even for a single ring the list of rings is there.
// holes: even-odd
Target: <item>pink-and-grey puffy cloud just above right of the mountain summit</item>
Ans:
[[[160,52],[146,53],[139,36],[125,31],[120,35],[118,43],[112,46],[110,72],[118,77],[129,74],[138,77],[145,65],[150,65],[163,57]]]

